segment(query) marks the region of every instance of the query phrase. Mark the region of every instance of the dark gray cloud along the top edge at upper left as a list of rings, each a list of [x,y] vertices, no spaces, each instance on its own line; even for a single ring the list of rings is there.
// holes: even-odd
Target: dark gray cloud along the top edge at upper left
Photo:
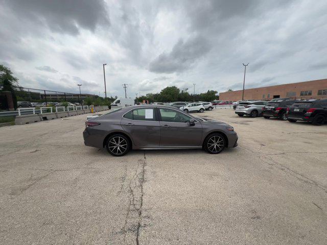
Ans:
[[[4,3],[18,16],[37,24],[45,21],[52,31],[76,35],[79,28],[95,31],[98,24],[109,26],[109,17],[103,0],[5,0]]]

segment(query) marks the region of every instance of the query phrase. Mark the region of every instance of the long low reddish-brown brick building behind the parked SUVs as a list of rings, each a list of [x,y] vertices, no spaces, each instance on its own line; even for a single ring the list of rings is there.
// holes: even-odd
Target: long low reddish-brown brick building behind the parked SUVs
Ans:
[[[244,90],[244,100],[269,101],[273,98],[279,97],[291,97],[295,99],[326,99],[327,79],[300,83],[289,83],[261,88],[250,88]],[[221,92],[219,93],[219,100],[242,100],[242,90]]]

